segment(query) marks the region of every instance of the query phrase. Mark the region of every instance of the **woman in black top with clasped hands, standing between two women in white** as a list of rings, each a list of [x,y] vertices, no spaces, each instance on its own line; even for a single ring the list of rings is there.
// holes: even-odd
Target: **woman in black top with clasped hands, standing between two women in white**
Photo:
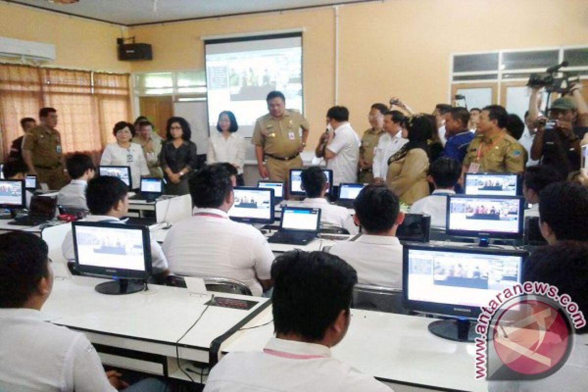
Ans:
[[[187,195],[188,173],[198,169],[196,145],[190,141],[190,125],[182,117],[168,119],[165,126],[167,140],[163,143],[159,162],[165,178],[167,195]]]

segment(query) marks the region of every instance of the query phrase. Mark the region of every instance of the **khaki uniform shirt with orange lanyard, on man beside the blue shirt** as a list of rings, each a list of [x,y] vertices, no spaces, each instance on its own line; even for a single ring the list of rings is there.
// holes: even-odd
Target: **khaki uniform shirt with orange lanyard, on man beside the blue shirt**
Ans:
[[[512,136],[499,132],[490,138],[476,135],[467,148],[463,164],[468,170],[471,163],[479,164],[478,172],[520,173],[525,161],[524,147]]]

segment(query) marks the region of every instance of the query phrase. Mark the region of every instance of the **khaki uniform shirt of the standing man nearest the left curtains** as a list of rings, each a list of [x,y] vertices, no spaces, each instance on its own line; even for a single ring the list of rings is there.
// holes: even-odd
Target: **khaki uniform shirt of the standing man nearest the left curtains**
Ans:
[[[32,153],[34,166],[54,167],[62,163],[61,135],[45,125],[37,125],[26,132],[22,149]]]

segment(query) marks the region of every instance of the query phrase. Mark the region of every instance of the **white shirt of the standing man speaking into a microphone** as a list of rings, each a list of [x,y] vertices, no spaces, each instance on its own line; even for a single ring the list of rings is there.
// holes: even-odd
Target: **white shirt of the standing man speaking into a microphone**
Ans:
[[[327,161],[327,168],[333,170],[333,185],[342,182],[357,182],[360,139],[351,125],[346,122],[335,129],[333,140],[327,149],[335,154]]]

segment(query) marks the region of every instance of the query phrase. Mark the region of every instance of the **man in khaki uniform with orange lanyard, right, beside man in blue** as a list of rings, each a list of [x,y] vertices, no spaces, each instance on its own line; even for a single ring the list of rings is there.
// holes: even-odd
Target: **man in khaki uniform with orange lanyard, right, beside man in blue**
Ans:
[[[507,112],[500,105],[486,106],[480,115],[476,137],[463,160],[463,173],[522,173],[524,147],[505,131]]]

